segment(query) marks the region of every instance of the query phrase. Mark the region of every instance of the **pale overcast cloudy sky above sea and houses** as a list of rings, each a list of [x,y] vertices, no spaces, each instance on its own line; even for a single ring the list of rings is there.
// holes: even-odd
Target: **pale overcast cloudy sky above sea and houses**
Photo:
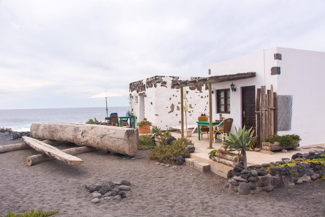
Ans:
[[[312,2],[312,3],[310,3]],[[103,107],[154,75],[271,47],[325,51],[325,1],[0,0],[0,109]]]

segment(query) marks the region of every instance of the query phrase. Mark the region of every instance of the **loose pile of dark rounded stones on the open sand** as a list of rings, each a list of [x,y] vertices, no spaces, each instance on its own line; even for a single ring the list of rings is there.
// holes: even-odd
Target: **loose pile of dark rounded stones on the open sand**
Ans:
[[[99,203],[100,198],[104,200],[122,200],[126,198],[124,191],[130,191],[131,182],[122,180],[122,182],[104,182],[103,184],[85,184],[85,188],[92,194],[92,203]]]

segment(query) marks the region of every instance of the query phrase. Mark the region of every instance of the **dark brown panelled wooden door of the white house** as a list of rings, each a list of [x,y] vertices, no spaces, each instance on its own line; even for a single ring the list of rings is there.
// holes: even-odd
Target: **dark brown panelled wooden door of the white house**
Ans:
[[[246,129],[250,129],[253,127],[253,129],[256,131],[256,115],[255,115],[255,86],[249,86],[249,87],[242,87],[241,88],[241,94],[242,94],[242,109],[241,109],[241,115],[242,115],[242,127]],[[254,136],[256,133],[254,132]]]

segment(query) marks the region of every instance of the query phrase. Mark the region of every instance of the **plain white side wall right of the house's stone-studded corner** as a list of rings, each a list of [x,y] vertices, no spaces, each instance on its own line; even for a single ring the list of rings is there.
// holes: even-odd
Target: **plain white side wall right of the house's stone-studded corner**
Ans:
[[[293,95],[292,130],[279,135],[298,134],[301,145],[325,143],[325,52],[277,48],[278,93]]]

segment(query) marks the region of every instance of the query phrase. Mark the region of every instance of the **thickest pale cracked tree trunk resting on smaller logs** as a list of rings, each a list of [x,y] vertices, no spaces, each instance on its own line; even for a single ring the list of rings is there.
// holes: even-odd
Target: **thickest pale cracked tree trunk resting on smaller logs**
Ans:
[[[91,146],[133,156],[139,145],[137,129],[95,124],[40,123],[32,124],[32,137]]]

